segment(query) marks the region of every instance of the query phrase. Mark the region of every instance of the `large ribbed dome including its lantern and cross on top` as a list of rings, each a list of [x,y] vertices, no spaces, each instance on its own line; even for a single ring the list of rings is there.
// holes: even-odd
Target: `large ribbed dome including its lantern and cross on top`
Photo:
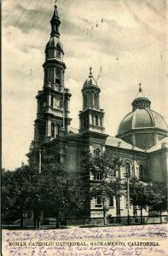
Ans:
[[[142,95],[141,84],[136,99],[132,102],[133,110],[121,121],[118,136],[134,129],[159,129],[168,131],[165,119],[154,110],[150,109],[150,101]]]

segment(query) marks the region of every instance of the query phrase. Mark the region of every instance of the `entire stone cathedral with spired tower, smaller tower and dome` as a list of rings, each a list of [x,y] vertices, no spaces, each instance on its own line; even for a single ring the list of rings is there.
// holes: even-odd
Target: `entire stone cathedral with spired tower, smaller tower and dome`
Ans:
[[[94,79],[90,67],[89,77],[84,82],[81,100],[83,109],[79,111],[79,129],[71,128],[69,104],[71,93],[64,80],[66,64],[60,40],[61,20],[55,5],[50,21],[50,39],[45,48],[43,63],[43,89],[38,91],[38,113],[34,125],[34,140],[30,153],[30,163],[38,160],[38,151],[52,150],[65,165],[70,177],[84,176],[81,164],[85,150],[105,150],[122,161],[119,173],[113,177],[125,180],[125,172],[142,182],[167,183],[168,171],[168,126],[163,117],[151,109],[150,100],[139,92],[132,102],[132,111],[119,124],[118,134],[108,136],[104,126],[105,112],[101,109],[101,89]],[[37,150],[38,148],[38,150]],[[88,174],[93,179],[91,173]],[[115,198],[107,201],[108,212],[117,216]],[[121,217],[127,215],[125,197],[120,200]],[[90,201],[80,218],[100,220],[103,211],[99,198]],[[148,212],[143,212],[147,215]],[[130,216],[133,208],[130,207]],[[80,223],[80,218],[76,222]],[[74,220],[75,221],[75,220]]]

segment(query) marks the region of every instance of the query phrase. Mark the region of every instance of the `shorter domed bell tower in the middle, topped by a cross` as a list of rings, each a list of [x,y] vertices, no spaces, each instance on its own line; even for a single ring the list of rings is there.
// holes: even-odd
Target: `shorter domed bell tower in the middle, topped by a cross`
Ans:
[[[100,108],[100,92],[96,79],[92,75],[90,67],[89,79],[84,82],[82,89],[83,94],[83,111],[79,112],[80,128],[79,133],[94,131],[104,133],[104,111]]]

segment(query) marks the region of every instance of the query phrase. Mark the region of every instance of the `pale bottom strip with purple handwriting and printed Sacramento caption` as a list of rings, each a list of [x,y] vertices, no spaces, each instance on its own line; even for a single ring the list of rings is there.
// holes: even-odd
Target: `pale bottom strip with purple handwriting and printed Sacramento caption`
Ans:
[[[168,256],[168,224],[3,230],[3,256]]]

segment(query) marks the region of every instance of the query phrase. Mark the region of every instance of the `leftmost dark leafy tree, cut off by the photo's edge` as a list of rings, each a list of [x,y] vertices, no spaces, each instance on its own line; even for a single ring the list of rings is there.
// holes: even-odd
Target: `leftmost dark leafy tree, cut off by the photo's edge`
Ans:
[[[14,172],[2,172],[2,204],[3,212],[14,212],[20,217],[23,227],[23,212],[30,209],[34,195],[36,173],[29,166],[22,165]],[[14,218],[14,217],[13,217]]]

